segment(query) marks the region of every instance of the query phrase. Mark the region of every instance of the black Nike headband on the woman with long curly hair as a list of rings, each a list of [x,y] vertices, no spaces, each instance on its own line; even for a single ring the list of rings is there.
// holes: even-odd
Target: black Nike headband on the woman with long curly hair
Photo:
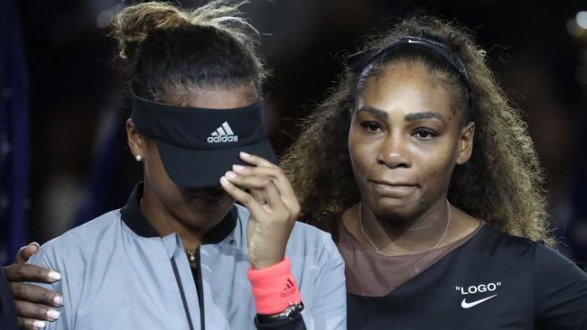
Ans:
[[[346,59],[346,65],[351,71],[360,73],[360,76],[362,77],[367,73],[366,69],[368,68],[369,64],[371,64],[374,60],[380,59],[384,54],[386,54],[390,50],[396,50],[398,47],[406,45],[423,47],[428,50],[433,50],[436,54],[442,56],[443,59],[446,60],[446,62],[459,73],[462,83],[465,89],[467,89],[467,102],[470,106],[472,106],[469,74],[467,74],[467,70],[465,69],[464,64],[462,63],[461,59],[459,59],[459,57],[457,57],[456,54],[454,54],[452,50],[450,50],[448,47],[443,45],[443,43],[438,41],[432,41],[429,39],[419,37],[403,37],[400,38],[398,41],[394,41],[381,49],[364,50],[359,53],[350,55]]]

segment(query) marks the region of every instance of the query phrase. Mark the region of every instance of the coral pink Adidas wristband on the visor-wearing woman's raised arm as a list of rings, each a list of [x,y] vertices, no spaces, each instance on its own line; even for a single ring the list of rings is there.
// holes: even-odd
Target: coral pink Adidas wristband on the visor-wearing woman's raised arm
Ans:
[[[292,275],[292,263],[287,257],[284,261],[262,270],[249,269],[248,280],[253,288],[257,314],[279,314],[290,303],[302,301]]]

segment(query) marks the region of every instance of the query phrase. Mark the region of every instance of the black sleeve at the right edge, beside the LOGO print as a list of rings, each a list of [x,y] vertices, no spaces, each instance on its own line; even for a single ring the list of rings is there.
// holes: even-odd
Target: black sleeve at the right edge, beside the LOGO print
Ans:
[[[536,329],[587,330],[587,275],[542,244],[534,266]]]

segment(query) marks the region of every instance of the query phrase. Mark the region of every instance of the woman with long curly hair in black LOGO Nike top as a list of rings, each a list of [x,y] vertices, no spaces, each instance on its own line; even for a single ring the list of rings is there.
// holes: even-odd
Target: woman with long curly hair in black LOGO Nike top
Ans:
[[[469,32],[414,17],[368,40],[282,165],[346,262],[349,329],[587,329],[587,277],[545,246],[533,142]]]

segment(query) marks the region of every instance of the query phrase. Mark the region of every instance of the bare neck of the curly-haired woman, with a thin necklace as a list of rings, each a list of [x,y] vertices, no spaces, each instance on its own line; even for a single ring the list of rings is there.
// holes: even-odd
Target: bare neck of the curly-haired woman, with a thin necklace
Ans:
[[[365,204],[353,208],[356,208],[354,215],[357,223],[360,209],[362,229],[359,224],[359,236],[362,236],[364,243],[375,245],[371,247],[380,253],[402,255],[444,245],[447,232],[451,229],[449,207],[446,199],[442,198],[422,214],[403,219],[392,215],[386,215],[385,218],[377,216]]]

